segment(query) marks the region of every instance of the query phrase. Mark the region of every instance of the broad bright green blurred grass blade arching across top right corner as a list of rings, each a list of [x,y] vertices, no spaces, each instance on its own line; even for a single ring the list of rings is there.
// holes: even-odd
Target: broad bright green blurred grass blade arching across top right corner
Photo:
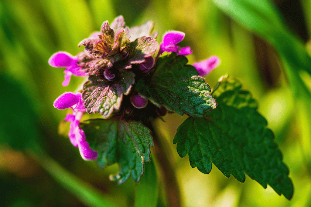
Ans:
[[[298,74],[299,70],[305,70],[311,74],[311,58],[300,39],[291,34],[278,17],[278,12],[272,3],[267,0],[256,0],[256,2],[253,0],[213,0],[213,2],[232,19],[274,45],[283,64],[288,66],[289,70],[285,71],[296,96],[301,95],[302,92],[311,97]]]

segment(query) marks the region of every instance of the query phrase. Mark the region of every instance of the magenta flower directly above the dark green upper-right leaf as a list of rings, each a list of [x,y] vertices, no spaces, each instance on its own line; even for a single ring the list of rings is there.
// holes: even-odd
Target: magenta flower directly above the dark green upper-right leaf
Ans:
[[[181,42],[185,37],[185,33],[180,31],[169,31],[163,35],[162,42],[160,44],[160,53],[176,52],[177,55],[190,55],[192,53],[190,47],[180,48],[177,43]]]

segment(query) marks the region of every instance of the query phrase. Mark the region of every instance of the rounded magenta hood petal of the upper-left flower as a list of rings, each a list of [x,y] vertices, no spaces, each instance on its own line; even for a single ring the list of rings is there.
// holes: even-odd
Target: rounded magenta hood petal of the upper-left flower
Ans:
[[[75,62],[77,62],[75,57],[68,52],[62,51],[54,53],[49,59],[49,64],[52,67],[68,67]]]

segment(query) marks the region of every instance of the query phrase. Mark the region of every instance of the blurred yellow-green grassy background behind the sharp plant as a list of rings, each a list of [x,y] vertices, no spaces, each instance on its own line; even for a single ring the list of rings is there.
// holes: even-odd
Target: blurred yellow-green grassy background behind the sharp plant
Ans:
[[[183,206],[311,206],[311,1],[310,0],[0,0],[0,200],[1,206],[134,206],[135,183],[109,181],[117,165],[100,170],[81,159],[61,125],[66,110],[53,101],[75,91],[83,78],[62,86],[63,69],[48,65],[123,15],[128,26],[146,20],[162,34],[186,33],[189,63],[217,55],[206,77],[213,87],[224,74],[242,80],[276,135],[295,187],[292,200],[263,189],[248,176],[240,183],[215,166],[192,169],[172,139],[186,119],[157,121],[169,143]],[[158,206],[166,206],[160,173]]]

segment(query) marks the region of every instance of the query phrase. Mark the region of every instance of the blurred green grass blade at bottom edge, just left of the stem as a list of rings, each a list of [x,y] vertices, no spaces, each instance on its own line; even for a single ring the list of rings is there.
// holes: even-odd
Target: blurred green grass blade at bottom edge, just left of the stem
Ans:
[[[152,157],[145,162],[145,173],[136,184],[135,207],[155,207],[158,200],[156,167]]]

